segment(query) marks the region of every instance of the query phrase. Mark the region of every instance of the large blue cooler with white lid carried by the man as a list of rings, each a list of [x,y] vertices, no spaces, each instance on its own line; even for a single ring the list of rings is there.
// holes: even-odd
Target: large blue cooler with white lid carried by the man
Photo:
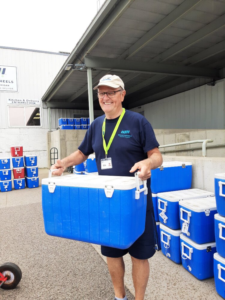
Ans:
[[[42,179],[45,231],[53,236],[126,249],[144,232],[146,181],[144,188],[142,185],[136,175]]]

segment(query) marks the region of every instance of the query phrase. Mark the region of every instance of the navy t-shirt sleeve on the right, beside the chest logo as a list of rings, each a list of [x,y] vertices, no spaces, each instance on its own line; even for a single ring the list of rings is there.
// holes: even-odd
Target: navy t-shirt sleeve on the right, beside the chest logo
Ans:
[[[142,128],[141,143],[145,153],[160,146],[160,144],[156,140],[152,125],[149,122],[145,123]]]

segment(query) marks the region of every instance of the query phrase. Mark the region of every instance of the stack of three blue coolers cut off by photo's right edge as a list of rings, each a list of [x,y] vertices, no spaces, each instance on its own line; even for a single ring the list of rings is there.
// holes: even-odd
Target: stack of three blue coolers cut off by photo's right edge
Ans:
[[[225,173],[215,174],[214,179],[216,206],[214,254],[214,279],[217,293],[225,298]]]

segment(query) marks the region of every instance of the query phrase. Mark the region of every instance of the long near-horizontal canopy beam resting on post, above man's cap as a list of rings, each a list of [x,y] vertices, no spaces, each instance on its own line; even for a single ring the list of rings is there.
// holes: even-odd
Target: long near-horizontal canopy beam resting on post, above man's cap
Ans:
[[[200,78],[220,77],[219,71],[216,69],[155,64],[151,62],[129,61],[124,59],[113,59],[96,56],[85,56],[85,64],[87,67],[93,67],[98,70],[111,69],[117,71],[123,70],[127,72]]]

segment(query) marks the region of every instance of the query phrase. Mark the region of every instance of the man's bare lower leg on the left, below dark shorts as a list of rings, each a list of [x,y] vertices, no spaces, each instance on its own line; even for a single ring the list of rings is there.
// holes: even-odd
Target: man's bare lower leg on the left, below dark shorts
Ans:
[[[123,299],[126,296],[123,280],[125,273],[123,257],[107,257],[107,264],[110,276],[112,278],[115,296]]]

